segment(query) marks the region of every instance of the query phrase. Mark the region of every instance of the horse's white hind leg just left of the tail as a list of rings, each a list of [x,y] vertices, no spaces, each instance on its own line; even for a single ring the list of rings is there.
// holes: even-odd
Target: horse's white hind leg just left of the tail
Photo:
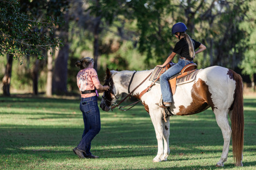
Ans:
[[[216,117],[216,121],[221,129],[223,140],[224,140],[222,155],[219,162],[216,164],[216,166],[219,167],[219,166],[224,166],[223,163],[226,162],[228,158],[231,129],[228,123],[228,114],[226,111],[220,111],[219,109],[214,109],[214,114]]]

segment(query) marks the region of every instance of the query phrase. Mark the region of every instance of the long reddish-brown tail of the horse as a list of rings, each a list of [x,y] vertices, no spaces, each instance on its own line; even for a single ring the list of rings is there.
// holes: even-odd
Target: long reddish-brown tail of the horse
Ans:
[[[243,159],[244,146],[244,106],[243,106],[243,81],[239,74],[233,72],[236,81],[236,90],[231,114],[231,130],[233,156],[237,166],[240,166]]]

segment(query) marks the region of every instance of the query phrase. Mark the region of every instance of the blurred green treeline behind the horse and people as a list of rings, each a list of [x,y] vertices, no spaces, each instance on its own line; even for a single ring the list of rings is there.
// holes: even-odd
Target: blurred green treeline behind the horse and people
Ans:
[[[42,49],[43,60],[38,60],[36,55],[14,56],[14,60],[12,54],[0,57],[0,79],[3,80],[0,86],[4,95],[10,95],[10,89],[11,92],[33,89],[33,94],[45,92],[47,96],[78,92],[79,69],[75,62],[86,56],[94,58],[101,81],[107,67],[153,69],[172,52],[177,39],[171,35],[171,28],[177,22],[184,22],[190,37],[207,47],[196,55],[199,69],[212,65],[228,67],[243,74],[243,80],[255,87],[255,0],[18,2],[21,12],[30,18],[40,20],[46,15],[65,21],[54,24],[52,30],[53,38],[61,39],[62,45],[51,52]],[[5,9],[2,7],[0,12],[2,10]],[[23,64],[20,65],[20,61]],[[174,62],[177,61],[175,57]]]

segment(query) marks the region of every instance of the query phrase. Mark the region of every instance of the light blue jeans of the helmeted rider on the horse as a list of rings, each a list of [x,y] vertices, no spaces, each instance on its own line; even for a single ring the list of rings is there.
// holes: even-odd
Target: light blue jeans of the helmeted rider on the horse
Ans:
[[[193,63],[193,61],[188,61],[188,60],[182,60],[181,58],[179,59],[179,62],[173,66],[170,67],[170,69],[168,69],[167,71],[165,71],[161,77],[160,77],[160,85],[161,85],[161,91],[162,91],[162,96],[163,96],[163,101],[164,102],[168,102],[168,103],[172,103],[172,92],[170,89],[170,85],[169,85],[169,79],[181,72],[181,70],[183,69],[183,67],[185,67],[186,65]]]

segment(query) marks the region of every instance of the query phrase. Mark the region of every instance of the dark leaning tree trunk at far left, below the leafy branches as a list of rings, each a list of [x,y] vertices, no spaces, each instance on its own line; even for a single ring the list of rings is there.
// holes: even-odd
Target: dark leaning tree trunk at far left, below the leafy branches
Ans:
[[[11,86],[11,75],[12,75],[12,61],[13,61],[13,55],[7,54],[7,64],[5,67],[5,73],[3,77],[3,95],[4,96],[10,96],[10,86]]]

